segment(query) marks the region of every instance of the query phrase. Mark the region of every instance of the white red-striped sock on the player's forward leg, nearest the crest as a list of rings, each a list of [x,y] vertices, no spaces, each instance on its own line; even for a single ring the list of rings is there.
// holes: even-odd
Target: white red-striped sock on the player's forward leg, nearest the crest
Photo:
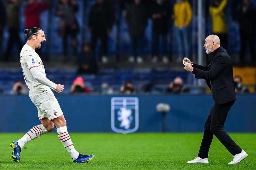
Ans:
[[[66,148],[70,156],[73,160],[76,160],[79,156],[79,152],[77,152],[74,148],[74,145],[72,143],[72,140],[67,132],[67,127],[63,126],[60,128],[57,128],[57,133],[60,141],[63,143],[63,146]]]

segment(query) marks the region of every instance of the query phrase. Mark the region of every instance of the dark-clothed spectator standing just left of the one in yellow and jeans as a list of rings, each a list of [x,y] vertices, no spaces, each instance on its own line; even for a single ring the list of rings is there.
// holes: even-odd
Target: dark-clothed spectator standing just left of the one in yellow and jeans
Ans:
[[[159,38],[162,37],[163,43],[163,63],[168,63],[167,57],[167,34],[169,27],[169,19],[172,14],[172,8],[168,1],[155,0],[155,3],[151,6],[151,18],[153,21],[153,45],[152,45],[152,62],[155,63],[158,60],[158,47]]]

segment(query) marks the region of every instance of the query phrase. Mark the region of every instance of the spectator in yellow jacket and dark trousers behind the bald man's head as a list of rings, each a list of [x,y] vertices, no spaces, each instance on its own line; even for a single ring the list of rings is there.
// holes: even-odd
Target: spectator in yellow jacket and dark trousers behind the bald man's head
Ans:
[[[215,34],[221,39],[221,47],[227,50],[228,48],[228,28],[225,17],[225,7],[227,0],[213,0],[209,7],[212,19],[212,34]]]

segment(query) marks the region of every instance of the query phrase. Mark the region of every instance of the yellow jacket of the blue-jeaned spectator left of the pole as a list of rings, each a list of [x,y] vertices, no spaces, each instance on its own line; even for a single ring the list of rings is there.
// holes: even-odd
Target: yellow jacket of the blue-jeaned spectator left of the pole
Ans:
[[[174,11],[174,24],[175,27],[188,27],[192,20],[192,9],[187,0],[175,3]]]

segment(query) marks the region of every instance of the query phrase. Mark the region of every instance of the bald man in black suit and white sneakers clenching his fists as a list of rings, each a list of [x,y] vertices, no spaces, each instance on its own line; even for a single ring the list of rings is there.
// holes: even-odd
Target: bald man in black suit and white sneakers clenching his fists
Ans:
[[[183,64],[186,71],[195,74],[195,78],[206,80],[212,91],[214,103],[204,125],[198,157],[187,163],[209,163],[208,152],[215,135],[233,155],[233,160],[229,164],[236,164],[245,159],[248,154],[223,130],[228,111],[236,100],[232,61],[227,51],[220,47],[220,39],[216,35],[208,36],[203,47],[207,54],[213,55],[213,60],[208,66],[195,64],[188,58],[184,58]]]

